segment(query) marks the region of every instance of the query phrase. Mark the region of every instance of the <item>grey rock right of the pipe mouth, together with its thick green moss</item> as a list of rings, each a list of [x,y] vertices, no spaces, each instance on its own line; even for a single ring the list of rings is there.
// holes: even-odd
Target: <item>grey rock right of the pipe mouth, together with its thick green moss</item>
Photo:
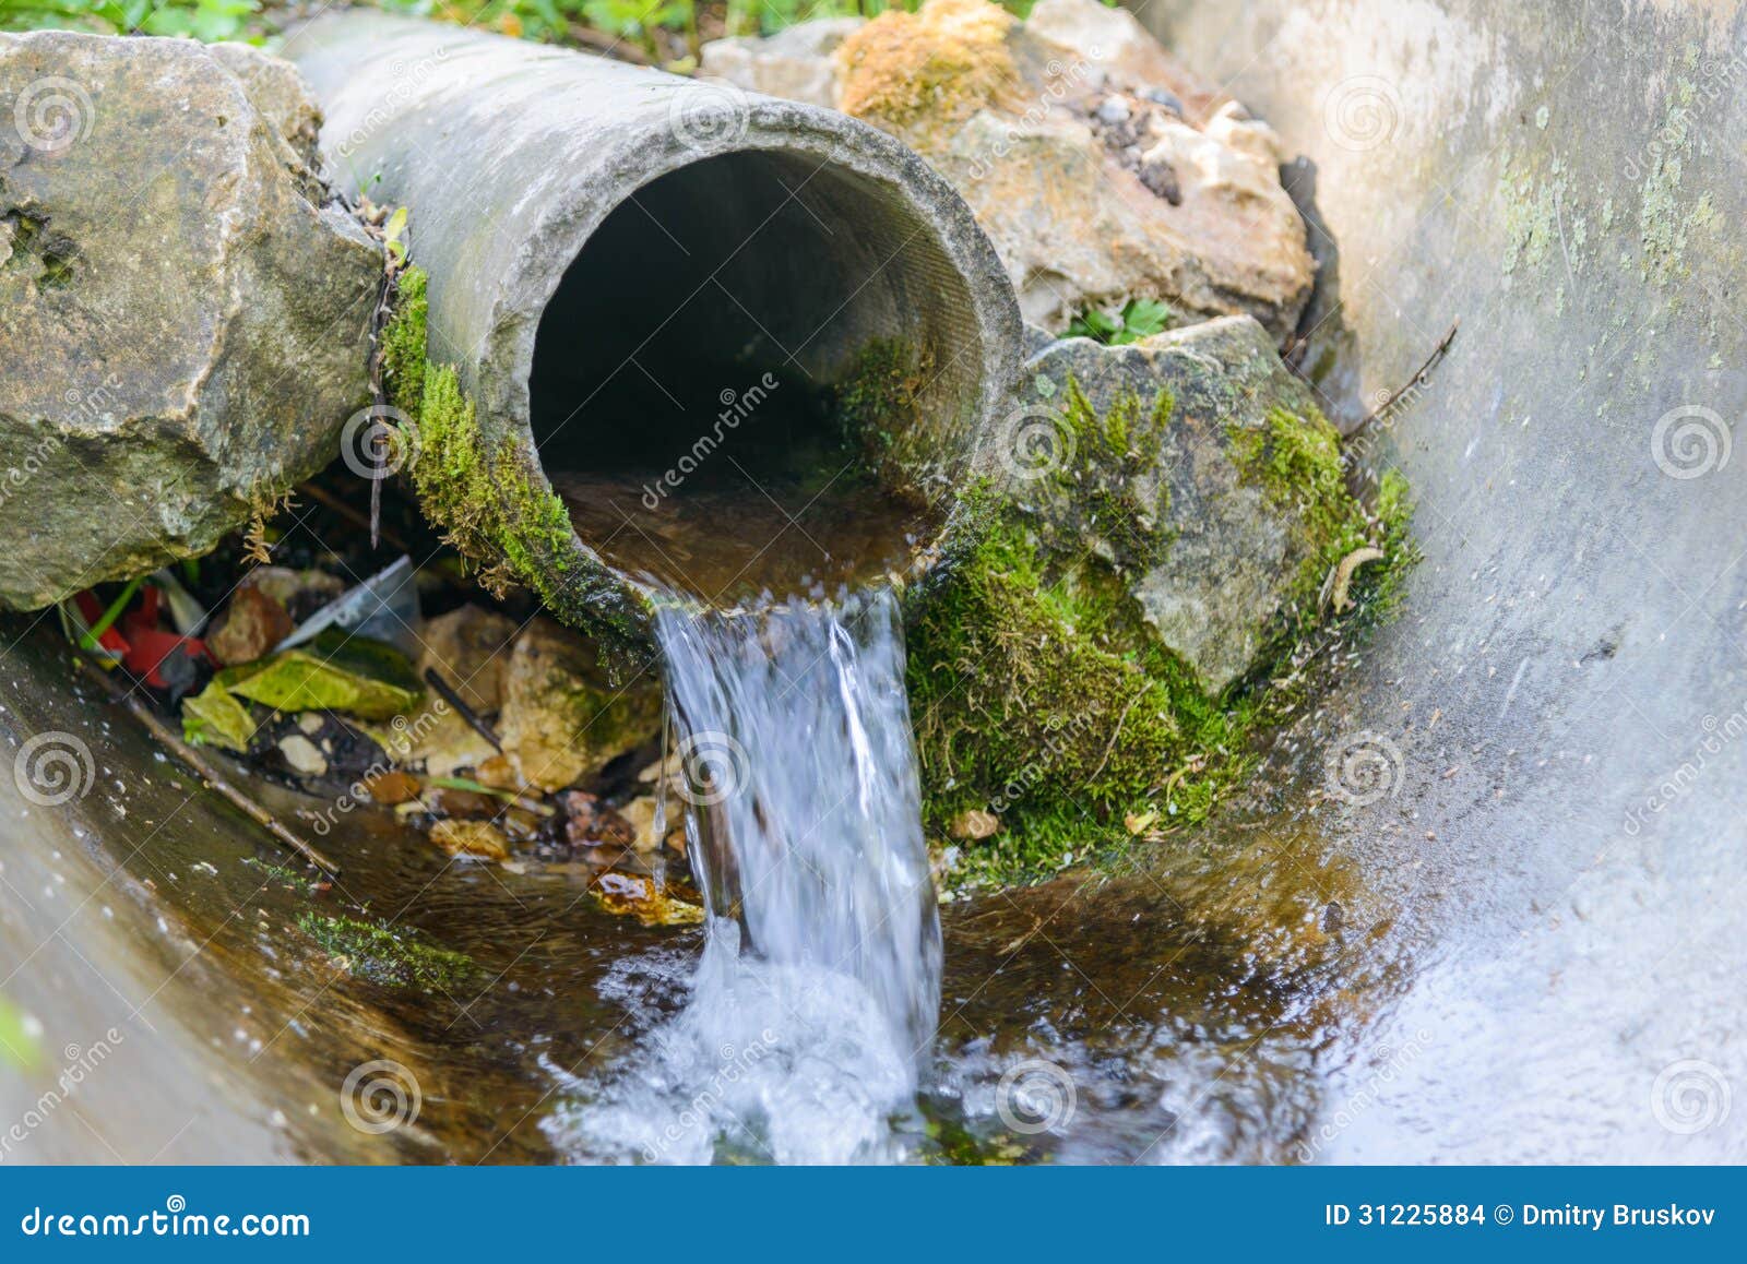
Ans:
[[[1349,494],[1335,428],[1249,316],[1045,344],[977,463],[905,599],[936,836],[999,821],[1034,855],[1080,855],[1116,822],[1202,819],[1324,632],[1329,576],[1403,555],[1405,489],[1385,477],[1375,510]],[[1387,574],[1368,567],[1361,599]]]

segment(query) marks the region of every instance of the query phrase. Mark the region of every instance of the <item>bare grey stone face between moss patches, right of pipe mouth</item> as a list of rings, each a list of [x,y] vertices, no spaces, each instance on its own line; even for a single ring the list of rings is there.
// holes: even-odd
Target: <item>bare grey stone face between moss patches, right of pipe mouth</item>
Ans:
[[[1272,623],[1291,601],[1312,555],[1307,505],[1270,494],[1233,449],[1239,436],[1265,443],[1270,412],[1312,412],[1310,391],[1247,316],[1226,316],[1141,342],[1104,347],[1062,339],[1025,361],[1022,417],[1060,409],[1073,381],[1099,417],[1137,402],[1130,440],[1157,450],[1129,489],[1146,515],[1137,524],[1099,522],[1088,489],[1057,487],[1017,461],[1006,489],[1034,515],[1059,522],[1074,548],[1111,562],[1134,550],[1148,560],[1123,566],[1125,587],[1158,641],[1179,655],[1209,695],[1221,693],[1254,663]],[[1165,391],[1170,417],[1155,424]],[[1305,422],[1309,424],[1309,422]],[[1057,436],[1057,442],[1060,438]],[[1139,539],[1116,545],[1118,531]]]

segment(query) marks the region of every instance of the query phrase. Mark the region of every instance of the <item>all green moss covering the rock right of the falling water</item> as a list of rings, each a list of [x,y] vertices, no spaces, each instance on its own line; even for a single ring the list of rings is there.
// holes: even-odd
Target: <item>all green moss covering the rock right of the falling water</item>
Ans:
[[[1300,571],[1263,651],[1263,665],[1221,697],[1158,644],[1125,571],[1169,548],[1148,503],[1169,393],[1143,412],[1123,398],[1102,417],[1078,384],[1062,396],[1071,457],[1052,477],[1074,513],[1034,513],[989,484],[961,501],[940,567],[908,595],[908,691],[924,789],[924,824],[945,840],[966,808],[992,810],[1001,831],[959,847],[957,885],[1008,885],[1067,862],[1111,862],[1193,826],[1254,765],[1258,726],[1293,700],[1275,676],[1305,637],[1326,635],[1321,585],[1352,548],[1375,543],[1385,564],[1354,578],[1359,609],[1342,629],[1375,625],[1412,562],[1406,484],[1387,475],[1366,512],[1347,491],[1340,440],[1312,410],[1275,409],[1267,426],[1228,431],[1240,477],[1286,498],[1302,524]],[[1162,489],[1158,492],[1164,494]],[[1113,548],[1085,557],[1095,520]],[[1078,515],[1078,519],[1076,519]]]

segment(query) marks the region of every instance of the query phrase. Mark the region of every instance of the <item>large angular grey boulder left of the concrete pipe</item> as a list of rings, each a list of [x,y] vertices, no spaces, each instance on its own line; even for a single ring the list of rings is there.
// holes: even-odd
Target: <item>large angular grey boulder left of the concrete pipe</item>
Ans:
[[[0,35],[0,606],[210,550],[369,402],[381,253],[299,91],[192,40]]]

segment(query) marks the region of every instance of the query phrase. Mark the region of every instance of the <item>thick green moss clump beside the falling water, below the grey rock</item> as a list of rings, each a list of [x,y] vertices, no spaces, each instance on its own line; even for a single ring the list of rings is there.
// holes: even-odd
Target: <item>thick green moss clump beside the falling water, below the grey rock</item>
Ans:
[[[1153,642],[1113,567],[1052,569],[1025,517],[985,491],[954,534],[945,578],[912,595],[908,691],[926,826],[966,808],[1003,833],[966,848],[964,876],[1045,876],[1064,855],[1207,815],[1246,766],[1251,707],[1219,704]]]

